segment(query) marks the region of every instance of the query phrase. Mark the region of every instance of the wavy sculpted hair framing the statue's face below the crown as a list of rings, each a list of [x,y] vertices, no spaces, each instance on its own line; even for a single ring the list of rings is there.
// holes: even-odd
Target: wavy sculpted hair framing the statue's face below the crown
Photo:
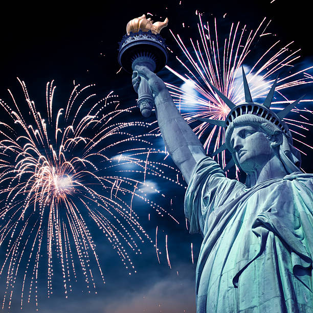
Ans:
[[[281,121],[281,123],[285,124],[284,121]],[[287,129],[287,132],[284,133],[274,123],[271,123],[270,121],[264,118],[261,118],[259,116],[252,115],[252,114],[245,114],[245,115],[236,117],[229,124],[225,132],[226,147],[232,153],[233,160],[235,161],[238,167],[240,166],[237,162],[237,159],[235,156],[235,150],[231,146],[230,140],[231,140],[231,136],[235,127],[248,126],[248,125],[257,127],[259,131],[262,131],[266,135],[269,135],[269,136],[273,136],[275,134],[281,133],[283,140],[279,147],[280,160],[283,163],[288,173],[299,171],[299,168],[301,166],[301,156],[300,156],[299,150],[297,150],[293,146],[293,138],[288,127],[285,126],[285,129]]]

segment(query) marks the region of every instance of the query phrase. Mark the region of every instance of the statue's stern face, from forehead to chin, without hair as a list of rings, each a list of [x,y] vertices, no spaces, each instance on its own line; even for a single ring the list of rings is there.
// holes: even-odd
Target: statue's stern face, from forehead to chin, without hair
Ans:
[[[275,155],[270,140],[254,126],[235,127],[231,146],[237,162],[246,173],[262,168]]]

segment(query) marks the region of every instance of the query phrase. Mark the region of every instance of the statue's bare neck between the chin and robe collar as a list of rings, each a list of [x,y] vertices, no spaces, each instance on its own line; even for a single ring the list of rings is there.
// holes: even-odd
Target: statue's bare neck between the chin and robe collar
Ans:
[[[267,161],[262,167],[248,173],[250,176],[250,187],[262,183],[272,178],[283,178],[288,173],[286,172],[282,162],[277,155]]]

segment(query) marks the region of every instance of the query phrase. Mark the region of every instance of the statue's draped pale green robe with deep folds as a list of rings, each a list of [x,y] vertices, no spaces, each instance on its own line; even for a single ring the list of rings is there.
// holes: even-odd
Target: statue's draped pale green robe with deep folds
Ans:
[[[197,312],[313,312],[312,202],[312,174],[247,188],[200,161],[185,196],[190,233],[204,237]]]

